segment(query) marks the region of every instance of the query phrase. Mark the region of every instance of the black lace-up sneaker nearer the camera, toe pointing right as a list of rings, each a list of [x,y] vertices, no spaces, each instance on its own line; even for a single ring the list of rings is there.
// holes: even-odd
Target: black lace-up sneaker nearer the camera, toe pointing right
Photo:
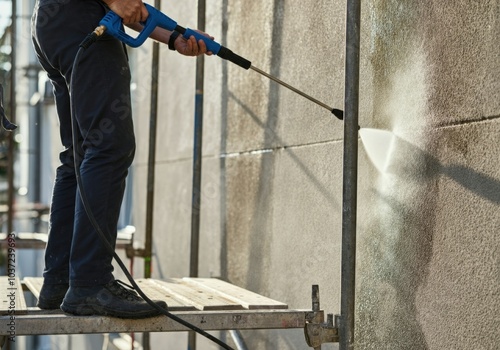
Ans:
[[[153,302],[166,309],[167,303]],[[149,305],[131,286],[114,280],[92,287],[70,287],[61,304],[61,310],[77,316],[113,316],[120,318],[146,318],[157,316],[160,311]]]

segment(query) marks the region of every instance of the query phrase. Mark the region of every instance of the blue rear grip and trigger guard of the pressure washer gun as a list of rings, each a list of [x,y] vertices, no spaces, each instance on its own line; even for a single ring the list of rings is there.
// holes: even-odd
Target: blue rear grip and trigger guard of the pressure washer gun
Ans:
[[[101,19],[99,25],[105,26],[108,34],[131,47],[141,46],[156,27],[161,27],[170,31],[177,27],[177,22],[167,17],[164,13],[158,11],[149,4],[145,3],[144,5],[148,10],[149,16],[146,21],[142,23],[144,28],[136,38],[133,38],[125,33],[123,30],[122,19],[113,11],[109,11],[106,16]]]

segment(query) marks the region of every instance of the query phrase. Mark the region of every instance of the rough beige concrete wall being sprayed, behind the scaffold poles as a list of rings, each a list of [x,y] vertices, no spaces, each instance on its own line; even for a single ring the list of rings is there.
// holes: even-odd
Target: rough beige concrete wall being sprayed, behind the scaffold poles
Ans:
[[[218,41],[343,108],[343,1],[207,7]],[[193,27],[195,8],[188,0],[162,10]],[[363,2],[356,349],[493,350],[500,342],[499,17],[499,0]],[[133,53],[141,234],[149,45]],[[165,47],[161,57],[157,278],[189,272],[195,63]],[[342,123],[217,57],[206,59],[204,107],[200,275],[291,308],[310,308],[319,284],[322,308],[339,313]],[[307,348],[300,330],[243,335],[251,349]],[[185,341],[154,335],[153,348]],[[215,348],[201,339],[200,347]]]

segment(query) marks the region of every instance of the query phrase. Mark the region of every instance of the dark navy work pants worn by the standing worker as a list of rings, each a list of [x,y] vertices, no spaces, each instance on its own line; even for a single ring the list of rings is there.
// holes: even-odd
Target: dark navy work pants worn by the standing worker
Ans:
[[[114,247],[125,178],[135,152],[130,70],[122,43],[104,35],[81,55],[78,76],[70,85],[79,44],[105,13],[98,0],[39,0],[33,14],[33,44],[54,87],[63,145],[45,252],[47,284],[92,286],[113,279],[112,255],[90,224],[76,182],[69,98],[71,93],[83,188]]]

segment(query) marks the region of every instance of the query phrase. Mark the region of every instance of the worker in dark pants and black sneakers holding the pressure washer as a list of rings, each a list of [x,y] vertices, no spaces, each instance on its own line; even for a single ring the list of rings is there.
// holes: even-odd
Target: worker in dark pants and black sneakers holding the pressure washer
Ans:
[[[91,210],[114,247],[125,178],[135,152],[124,45],[104,34],[82,55],[79,74],[70,81],[79,44],[108,9],[136,29],[148,16],[140,0],[38,0],[33,14],[33,45],[54,87],[64,146],[52,194],[38,306],[60,307],[75,315],[142,318],[158,311],[114,279],[112,255],[92,228],[75,177],[74,148],[81,160],[81,181]],[[207,53],[202,40],[185,40],[176,34],[157,28],[151,37],[186,56]],[[78,145],[72,142],[70,86]],[[162,301],[156,303],[166,307]]]

